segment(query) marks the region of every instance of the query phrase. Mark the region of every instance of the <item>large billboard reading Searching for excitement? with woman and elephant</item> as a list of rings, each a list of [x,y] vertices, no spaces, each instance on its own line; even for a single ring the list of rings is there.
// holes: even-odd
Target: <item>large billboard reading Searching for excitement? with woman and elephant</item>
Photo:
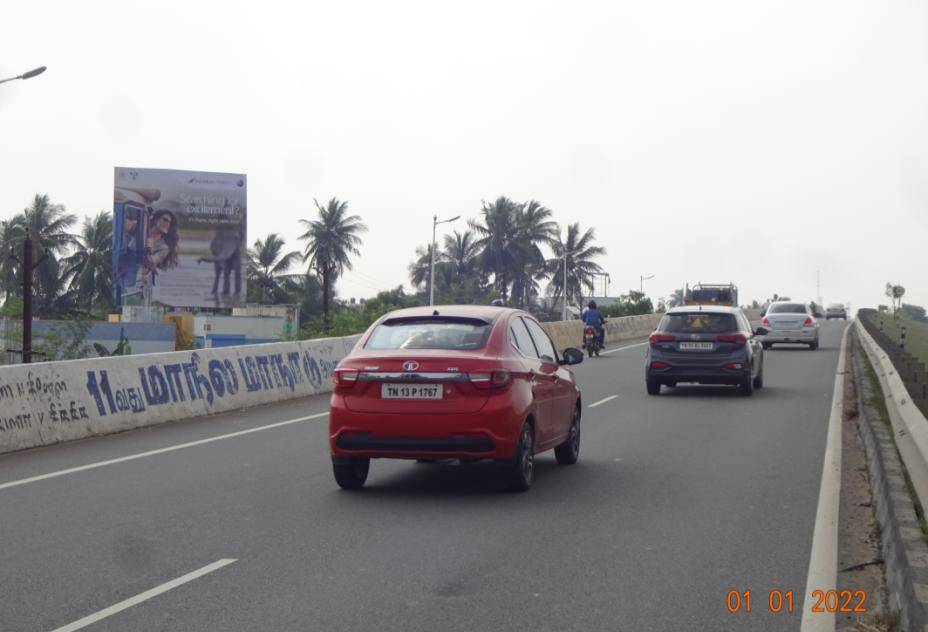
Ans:
[[[237,173],[116,167],[116,305],[245,305],[246,181]]]

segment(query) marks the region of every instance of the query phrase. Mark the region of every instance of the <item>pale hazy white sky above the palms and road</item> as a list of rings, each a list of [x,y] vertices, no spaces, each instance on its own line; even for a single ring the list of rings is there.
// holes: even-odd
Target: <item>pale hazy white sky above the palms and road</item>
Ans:
[[[248,241],[313,198],[370,228],[342,298],[409,284],[432,217],[535,199],[610,295],[728,282],[928,305],[928,5],[7,0],[0,219],[112,208],[113,167],[248,176]],[[450,227],[449,227],[450,226]],[[601,293],[600,290],[599,293]]]

